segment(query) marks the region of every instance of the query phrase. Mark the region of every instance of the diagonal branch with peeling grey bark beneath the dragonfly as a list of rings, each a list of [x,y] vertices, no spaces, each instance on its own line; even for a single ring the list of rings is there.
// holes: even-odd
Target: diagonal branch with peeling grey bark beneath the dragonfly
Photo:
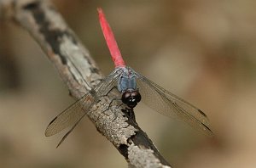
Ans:
[[[49,2],[4,0],[0,3],[0,14],[15,20],[32,35],[55,64],[73,98],[81,98],[103,79],[88,50]],[[125,157],[130,167],[170,167],[137,125],[133,110],[125,105],[111,104],[117,94],[113,92],[102,97],[87,114],[89,119]]]

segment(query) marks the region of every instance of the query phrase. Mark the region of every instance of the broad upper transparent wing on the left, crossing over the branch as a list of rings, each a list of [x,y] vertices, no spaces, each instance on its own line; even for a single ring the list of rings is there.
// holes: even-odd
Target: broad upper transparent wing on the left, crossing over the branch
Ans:
[[[60,115],[57,115],[55,119],[49,123],[49,126],[47,126],[45,136],[48,137],[55,135],[68,126],[73,125],[73,128],[77,126],[78,122],[84,117],[84,115],[90,111],[90,107],[96,103],[99,96],[109,92],[116,85],[118,76],[119,75],[116,73],[110,74],[94,89],[85,94],[82,98],[79,98],[78,101],[70,105],[67,109],[61,112]],[[70,132],[72,130],[70,130]]]

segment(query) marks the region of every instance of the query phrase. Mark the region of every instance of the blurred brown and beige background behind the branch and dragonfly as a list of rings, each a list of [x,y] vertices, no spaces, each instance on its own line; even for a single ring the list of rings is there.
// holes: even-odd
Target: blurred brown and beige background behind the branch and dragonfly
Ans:
[[[143,104],[137,122],[174,167],[256,167],[256,1],[55,0],[108,75],[113,63],[97,19],[102,7],[127,64],[202,109],[215,137]],[[1,167],[127,167],[90,120],[44,137],[73,98],[31,36],[0,21]]]

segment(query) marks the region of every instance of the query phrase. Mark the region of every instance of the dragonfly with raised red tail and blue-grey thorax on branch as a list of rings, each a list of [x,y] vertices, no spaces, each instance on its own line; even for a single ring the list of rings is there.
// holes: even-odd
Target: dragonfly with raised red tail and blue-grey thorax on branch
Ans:
[[[163,87],[150,81],[148,78],[132,70],[131,67],[125,65],[125,61],[119,51],[118,44],[113,36],[108,20],[102,8],[97,8],[99,22],[102,27],[103,36],[107,42],[107,46],[115,69],[113,72],[104,78],[90,92],[86,93],[82,98],[79,98],[74,104],[57,115],[54,120],[47,126],[45,135],[47,137],[61,132],[68,126],[72,128],[62,137],[61,142],[73,131],[84,115],[90,112],[91,107],[96,104],[102,96],[108,94],[113,87],[116,87],[121,95],[119,98],[122,104],[133,109],[140,101],[147,104],[151,109],[159,112],[162,115],[183,120],[185,123],[201,131],[207,136],[212,136],[213,133],[209,127],[207,115],[197,109],[194,105],[189,104],[182,98],[177,97],[172,92],[168,92]]]

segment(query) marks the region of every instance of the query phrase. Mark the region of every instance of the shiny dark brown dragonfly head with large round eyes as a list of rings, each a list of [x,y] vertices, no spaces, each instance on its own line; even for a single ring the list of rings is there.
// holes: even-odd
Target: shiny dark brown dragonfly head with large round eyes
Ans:
[[[137,105],[137,103],[141,101],[141,99],[142,96],[137,90],[127,90],[122,94],[122,102],[131,109],[134,108]]]

